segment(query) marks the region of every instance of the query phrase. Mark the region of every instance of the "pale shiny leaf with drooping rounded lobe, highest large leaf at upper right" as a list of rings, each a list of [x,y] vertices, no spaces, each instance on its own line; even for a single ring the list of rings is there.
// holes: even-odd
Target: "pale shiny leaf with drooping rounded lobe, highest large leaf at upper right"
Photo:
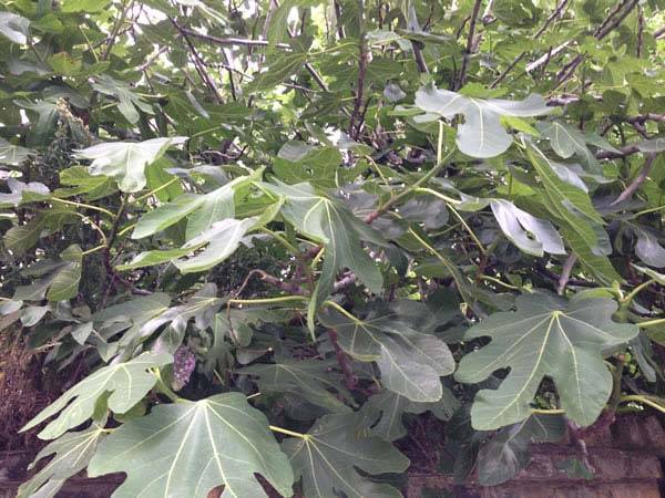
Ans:
[[[458,127],[457,145],[471,157],[494,157],[508,151],[512,137],[501,126],[501,116],[542,116],[552,112],[540,95],[530,95],[524,101],[468,97],[433,85],[416,92],[416,105],[430,113],[416,116],[418,123],[438,117],[452,118],[464,115]]]

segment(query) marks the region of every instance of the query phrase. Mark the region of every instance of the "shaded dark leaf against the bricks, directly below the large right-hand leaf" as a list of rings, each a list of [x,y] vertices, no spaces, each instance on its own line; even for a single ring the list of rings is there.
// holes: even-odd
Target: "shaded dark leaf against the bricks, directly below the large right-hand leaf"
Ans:
[[[516,476],[529,465],[532,443],[559,443],[566,433],[565,422],[557,415],[531,415],[503,427],[478,453],[478,481],[497,486]]]

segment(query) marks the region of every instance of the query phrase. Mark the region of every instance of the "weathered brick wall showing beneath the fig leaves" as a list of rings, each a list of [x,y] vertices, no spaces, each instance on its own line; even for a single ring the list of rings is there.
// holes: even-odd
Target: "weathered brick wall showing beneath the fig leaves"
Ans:
[[[532,446],[532,461],[514,479],[500,486],[482,487],[472,480],[456,486],[449,476],[411,474],[408,498],[661,498],[665,458],[665,430],[655,416],[623,416],[611,427],[585,439],[593,479],[571,477],[560,464],[579,458],[580,450],[569,442]],[[0,455],[0,498],[16,496],[31,460],[27,452]],[[70,479],[61,498],[108,498],[122,476],[100,479]],[[218,492],[211,497],[217,498]]]

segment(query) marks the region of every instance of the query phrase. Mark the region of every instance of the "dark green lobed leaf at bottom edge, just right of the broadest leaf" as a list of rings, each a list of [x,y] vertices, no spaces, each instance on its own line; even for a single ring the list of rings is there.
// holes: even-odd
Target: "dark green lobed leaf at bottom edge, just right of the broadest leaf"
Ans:
[[[390,443],[378,437],[364,437],[355,415],[326,415],[319,418],[304,438],[289,438],[282,444],[294,467],[296,479],[303,478],[306,497],[401,497],[387,484],[374,483],[369,475],[401,473],[409,459]]]

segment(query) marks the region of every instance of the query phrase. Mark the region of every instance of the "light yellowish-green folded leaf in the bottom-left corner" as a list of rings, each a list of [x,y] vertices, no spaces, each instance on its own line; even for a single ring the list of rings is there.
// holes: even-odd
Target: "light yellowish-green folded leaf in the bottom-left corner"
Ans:
[[[93,423],[78,433],[66,433],[51,442],[37,454],[29,469],[43,458],[53,455],[30,480],[19,487],[17,498],[51,497],[60,490],[66,479],[83,470],[105,437],[104,427]]]

